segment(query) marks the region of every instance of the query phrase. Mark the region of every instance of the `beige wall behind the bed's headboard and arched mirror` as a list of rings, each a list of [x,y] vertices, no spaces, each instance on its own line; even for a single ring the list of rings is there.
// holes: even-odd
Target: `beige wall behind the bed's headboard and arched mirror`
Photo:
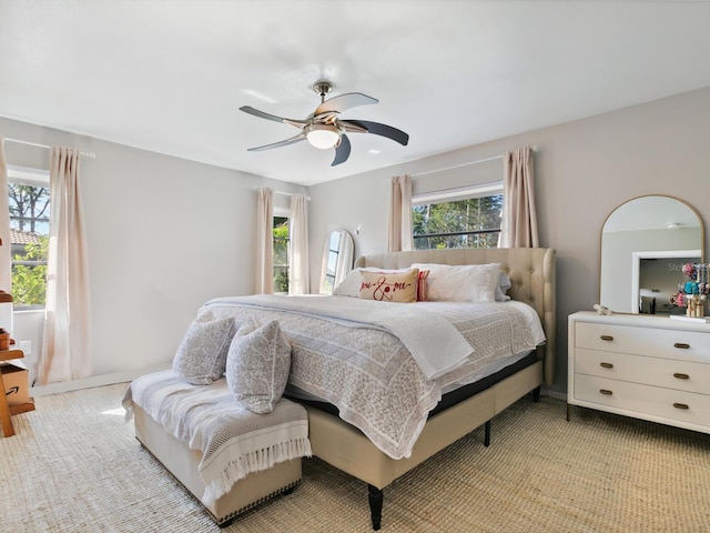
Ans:
[[[670,194],[710,218],[708,139],[710,88],[585,120],[521,133],[426,160],[403,163],[311,188],[313,260],[328,231],[354,233],[356,253],[387,245],[389,178],[486,159],[520,145],[537,145],[536,193],[540,244],[556,248],[557,380],[566,390],[567,316],[590,310],[599,294],[599,233],[626,200]],[[413,135],[414,137],[414,135]],[[414,141],[414,139],[413,139]],[[500,161],[468,167],[470,182],[499,179]],[[460,185],[462,170],[414,178],[415,191]],[[359,234],[355,230],[361,228]],[[707,238],[706,238],[707,239]]]

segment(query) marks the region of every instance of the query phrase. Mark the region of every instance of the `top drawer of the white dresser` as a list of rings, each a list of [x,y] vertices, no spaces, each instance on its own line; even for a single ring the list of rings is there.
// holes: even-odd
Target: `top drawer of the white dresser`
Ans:
[[[575,345],[606,352],[710,363],[710,334],[698,331],[576,322]]]

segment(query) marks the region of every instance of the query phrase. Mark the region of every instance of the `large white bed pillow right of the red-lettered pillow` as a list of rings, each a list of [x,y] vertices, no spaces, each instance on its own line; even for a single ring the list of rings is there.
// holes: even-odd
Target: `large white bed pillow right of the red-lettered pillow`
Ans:
[[[435,264],[414,263],[413,268],[428,270],[427,301],[488,303],[496,299],[500,263]]]

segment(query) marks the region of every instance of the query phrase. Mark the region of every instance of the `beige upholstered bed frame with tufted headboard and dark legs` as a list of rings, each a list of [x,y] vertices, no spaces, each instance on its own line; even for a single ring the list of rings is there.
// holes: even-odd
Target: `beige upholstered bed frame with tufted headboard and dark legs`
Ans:
[[[355,266],[402,269],[412,263],[500,263],[501,270],[510,276],[511,288],[508,294],[513,300],[535,308],[547,342],[538,348],[538,361],[532,365],[430,416],[412,456],[407,459],[389,457],[338,416],[306,405],[313,454],[367,483],[374,530],[379,530],[382,523],[384,487],[462,436],[486,424],[525,394],[530,391],[539,393],[540,385],[551,384],[555,376],[554,249],[418,250],[361,257]]]

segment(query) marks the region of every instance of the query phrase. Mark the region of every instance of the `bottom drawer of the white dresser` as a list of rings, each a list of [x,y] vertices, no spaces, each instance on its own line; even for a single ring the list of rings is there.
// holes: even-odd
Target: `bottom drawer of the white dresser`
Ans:
[[[639,418],[660,418],[701,425],[710,430],[710,396],[658,386],[575,374],[575,399],[613,408],[616,412]]]

